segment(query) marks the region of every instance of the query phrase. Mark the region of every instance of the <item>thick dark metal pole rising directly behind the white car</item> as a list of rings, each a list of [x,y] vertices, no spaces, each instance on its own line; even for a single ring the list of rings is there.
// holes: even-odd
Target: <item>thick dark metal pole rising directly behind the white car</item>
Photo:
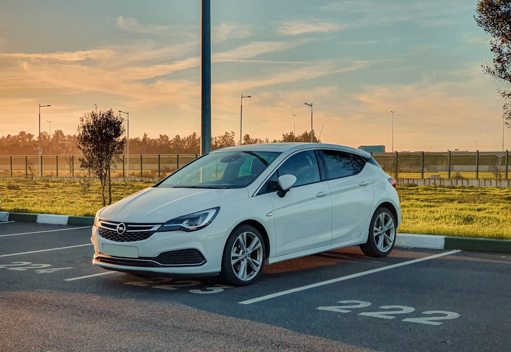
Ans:
[[[211,151],[211,0],[202,0],[201,154]]]

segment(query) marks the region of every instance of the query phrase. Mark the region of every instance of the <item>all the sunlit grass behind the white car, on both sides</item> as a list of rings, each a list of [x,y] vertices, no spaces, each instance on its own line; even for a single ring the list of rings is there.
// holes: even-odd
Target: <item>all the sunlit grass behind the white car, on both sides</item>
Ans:
[[[151,182],[114,182],[113,202]],[[399,232],[511,239],[511,188],[399,187]],[[94,216],[99,182],[0,180],[0,211]]]

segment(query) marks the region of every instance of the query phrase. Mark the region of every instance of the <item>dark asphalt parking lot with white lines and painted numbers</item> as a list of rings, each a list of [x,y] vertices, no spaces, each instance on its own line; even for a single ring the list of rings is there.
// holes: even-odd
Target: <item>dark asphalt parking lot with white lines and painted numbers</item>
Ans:
[[[233,288],[91,264],[90,226],[0,223],[0,351],[508,351],[511,255],[344,248]]]

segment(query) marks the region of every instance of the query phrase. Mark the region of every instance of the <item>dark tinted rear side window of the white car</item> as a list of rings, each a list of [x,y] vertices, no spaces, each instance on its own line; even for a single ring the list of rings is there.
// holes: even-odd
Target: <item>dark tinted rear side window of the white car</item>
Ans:
[[[365,160],[349,152],[340,150],[321,150],[329,180],[355,175],[362,171]]]

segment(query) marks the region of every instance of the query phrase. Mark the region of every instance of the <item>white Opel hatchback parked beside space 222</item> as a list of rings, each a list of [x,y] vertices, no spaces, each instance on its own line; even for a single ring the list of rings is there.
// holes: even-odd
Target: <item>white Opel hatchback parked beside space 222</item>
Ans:
[[[94,265],[133,274],[220,275],[248,285],[265,264],[360,245],[390,253],[401,207],[369,153],[271,143],[211,151],[100,209]]]

